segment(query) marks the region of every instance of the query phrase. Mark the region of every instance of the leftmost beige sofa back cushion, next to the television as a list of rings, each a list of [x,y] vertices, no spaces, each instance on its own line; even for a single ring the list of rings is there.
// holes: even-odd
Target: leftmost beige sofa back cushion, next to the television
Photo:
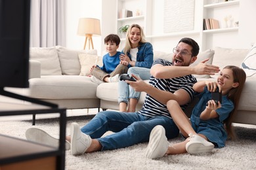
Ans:
[[[60,61],[55,47],[30,48],[30,59],[40,61],[41,75],[61,75]]]

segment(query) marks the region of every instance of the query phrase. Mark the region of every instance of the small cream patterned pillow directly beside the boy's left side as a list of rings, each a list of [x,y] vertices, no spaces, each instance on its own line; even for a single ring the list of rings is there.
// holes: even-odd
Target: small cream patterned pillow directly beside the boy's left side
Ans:
[[[99,56],[91,54],[78,54],[79,62],[81,65],[80,76],[90,75],[90,69],[92,65],[102,65],[102,59]]]

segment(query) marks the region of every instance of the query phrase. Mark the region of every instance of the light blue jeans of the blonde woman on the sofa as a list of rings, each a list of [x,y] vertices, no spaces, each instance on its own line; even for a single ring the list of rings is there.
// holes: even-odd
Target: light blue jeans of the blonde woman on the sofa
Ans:
[[[128,75],[139,76],[142,80],[150,79],[150,69],[144,67],[130,67],[127,72]],[[118,103],[125,102],[128,103],[129,99],[140,98],[140,92],[135,92],[135,90],[129,86],[125,81],[118,82]]]

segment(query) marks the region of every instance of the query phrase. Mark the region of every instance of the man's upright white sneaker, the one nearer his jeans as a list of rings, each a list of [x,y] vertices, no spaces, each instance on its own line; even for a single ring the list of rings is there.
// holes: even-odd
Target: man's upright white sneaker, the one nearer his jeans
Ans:
[[[79,125],[77,123],[71,124],[71,154],[79,155],[85,153],[85,151],[91,146],[91,137],[81,133]]]

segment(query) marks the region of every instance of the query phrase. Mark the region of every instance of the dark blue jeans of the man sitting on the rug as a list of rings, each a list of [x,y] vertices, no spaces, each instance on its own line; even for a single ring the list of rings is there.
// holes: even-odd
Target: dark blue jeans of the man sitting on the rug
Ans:
[[[81,131],[102,144],[102,150],[113,150],[149,141],[151,130],[161,125],[165,128],[167,139],[179,135],[173,119],[166,116],[148,117],[138,112],[98,112]],[[102,137],[106,131],[114,133]]]

